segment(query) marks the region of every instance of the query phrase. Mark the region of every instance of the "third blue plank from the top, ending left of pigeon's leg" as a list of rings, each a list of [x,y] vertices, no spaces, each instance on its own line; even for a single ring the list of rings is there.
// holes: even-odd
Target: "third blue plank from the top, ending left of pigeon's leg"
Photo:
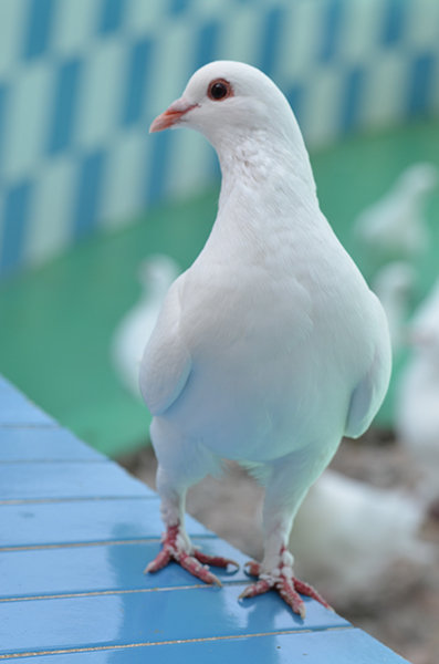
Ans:
[[[0,500],[155,496],[113,461],[0,464]]]

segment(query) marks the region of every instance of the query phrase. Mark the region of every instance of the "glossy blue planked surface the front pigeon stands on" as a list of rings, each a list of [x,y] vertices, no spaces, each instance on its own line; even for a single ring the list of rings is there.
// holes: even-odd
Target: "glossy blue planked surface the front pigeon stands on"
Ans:
[[[403,664],[399,655],[305,599],[240,601],[245,558],[188,517],[194,540],[236,559],[210,588],[160,547],[154,491],[90,449],[0,377],[0,661],[22,664]]]

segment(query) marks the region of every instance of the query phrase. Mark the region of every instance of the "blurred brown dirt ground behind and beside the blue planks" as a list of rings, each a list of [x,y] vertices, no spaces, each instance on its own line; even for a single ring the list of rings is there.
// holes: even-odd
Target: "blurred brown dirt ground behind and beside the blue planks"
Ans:
[[[155,487],[156,459],[151,447],[119,459],[122,465]],[[414,490],[414,463],[390,432],[372,430],[360,440],[343,442],[332,468],[378,487]],[[260,559],[260,509],[263,489],[238,466],[221,478],[208,477],[188,494],[187,510],[207,528],[251,558]],[[375,584],[372,593],[346,599],[326,596],[344,618],[412,662],[439,662],[439,519],[426,516],[421,538],[431,543],[433,562],[401,562]],[[297,561],[299,562],[299,561]],[[312,579],[307,579],[313,582]]]

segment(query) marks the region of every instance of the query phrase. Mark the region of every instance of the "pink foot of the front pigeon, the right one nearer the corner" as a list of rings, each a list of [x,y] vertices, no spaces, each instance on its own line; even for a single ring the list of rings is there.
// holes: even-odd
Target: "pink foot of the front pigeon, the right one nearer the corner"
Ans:
[[[276,590],[286,604],[291,606],[293,612],[297,613],[302,620],[305,618],[306,611],[305,604],[299,593],[316,600],[326,609],[331,609],[330,604],[312,585],[293,577],[291,563],[284,562],[284,552],[285,550],[281,551],[279,570],[273,574],[261,574],[261,566],[258,562],[250,561],[245,564],[249,574],[252,577],[260,577],[260,579],[259,581],[255,581],[255,583],[248,585],[239,595],[240,599],[254,598],[269,590]]]

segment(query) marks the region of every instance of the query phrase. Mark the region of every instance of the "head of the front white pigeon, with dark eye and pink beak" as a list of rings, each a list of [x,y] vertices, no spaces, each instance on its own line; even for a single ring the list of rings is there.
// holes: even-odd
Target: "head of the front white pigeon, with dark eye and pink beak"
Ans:
[[[217,147],[257,133],[285,138],[296,124],[286,98],[265,74],[242,62],[217,61],[195,72],[181,97],[149,131],[180,126],[201,132]]]

